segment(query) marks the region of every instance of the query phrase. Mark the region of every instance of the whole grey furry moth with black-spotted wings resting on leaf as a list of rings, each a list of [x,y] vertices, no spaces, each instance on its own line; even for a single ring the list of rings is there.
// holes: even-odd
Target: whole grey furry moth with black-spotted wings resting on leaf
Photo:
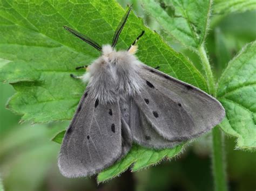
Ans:
[[[71,74],[87,82],[87,87],[60,148],[58,166],[66,177],[99,173],[124,157],[132,143],[172,148],[211,130],[225,116],[212,96],[136,58],[136,43],[144,31],[126,51],[116,51],[131,9],[119,23],[111,45],[100,46],[64,26],[102,52],[91,65],[76,68],[86,68],[83,76]]]

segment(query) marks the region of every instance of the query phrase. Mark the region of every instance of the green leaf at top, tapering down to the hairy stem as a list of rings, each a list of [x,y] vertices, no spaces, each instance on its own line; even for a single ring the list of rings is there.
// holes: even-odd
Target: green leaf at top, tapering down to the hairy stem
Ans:
[[[163,29],[195,51],[204,43],[210,16],[210,0],[142,0],[143,8]]]

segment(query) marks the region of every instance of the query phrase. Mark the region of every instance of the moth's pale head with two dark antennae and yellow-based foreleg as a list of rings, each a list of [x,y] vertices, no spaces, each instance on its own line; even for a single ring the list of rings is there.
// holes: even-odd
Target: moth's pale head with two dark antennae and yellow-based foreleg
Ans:
[[[123,28],[124,28],[124,25],[126,23],[126,20],[127,18],[129,17],[130,15],[130,12],[132,10],[132,5],[129,7],[129,9],[125,12],[125,15],[123,16],[121,22],[119,23],[119,25],[117,26],[117,29],[116,31],[114,32],[114,36],[113,36],[113,39],[112,39],[112,44],[111,46],[108,45],[108,46],[100,46],[98,43],[96,43],[96,41],[90,39],[89,37],[85,36],[84,34],[82,33],[79,33],[73,29],[71,29],[70,27],[68,26],[64,26],[64,29],[69,31],[70,33],[72,33],[73,35],[75,35],[76,37],[82,39],[83,41],[85,41],[86,43],[88,43],[89,45],[91,45],[92,47],[95,47],[98,51],[100,52],[103,52],[103,55],[106,55],[107,53],[110,53],[110,52],[113,52],[114,51],[114,47],[116,46],[117,44],[117,41],[118,41],[118,38],[119,38],[119,35],[120,33],[122,32]],[[144,31],[143,31],[144,33]],[[143,33],[139,36],[141,37],[143,35]],[[138,37],[138,38],[139,38]],[[136,43],[136,41],[138,40],[138,38],[133,42],[133,44],[129,47],[128,49],[128,52],[131,53],[131,54],[134,54],[136,53],[137,51],[137,47],[134,46],[134,44]]]

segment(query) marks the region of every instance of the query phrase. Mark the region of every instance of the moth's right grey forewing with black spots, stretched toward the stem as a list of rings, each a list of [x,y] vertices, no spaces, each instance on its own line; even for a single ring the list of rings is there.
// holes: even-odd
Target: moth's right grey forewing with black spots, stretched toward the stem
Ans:
[[[168,140],[198,137],[225,116],[215,98],[190,84],[144,64],[140,76],[143,88],[134,101],[154,130]]]

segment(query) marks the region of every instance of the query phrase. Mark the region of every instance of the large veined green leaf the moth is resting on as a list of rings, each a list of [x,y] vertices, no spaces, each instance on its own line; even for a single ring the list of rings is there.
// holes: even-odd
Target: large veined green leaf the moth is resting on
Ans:
[[[23,115],[22,121],[33,123],[71,119],[85,85],[72,79],[70,73],[81,75],[83,72],[75,68],[91,63],[100,54],[66,32],[63,25],[85,33],[100,44],[107,44],[125,10],[113,0],[0,2],[0,80],[11,83],[17,91],[8,108]],[[127,20],[117,48],[127,49],[142,30],[145,34],[139,41],[139,60],[152,67],[160,66],[163,72],[207,91],[204,77],[192,63],[145,27],[143,20],[134,13]],[[137,153],[144,151],[140,147],[133,149]],[[172,157],[176,154],[176,148],[173,149],[161,151],[159,157],[146,164],[138,163],[137,168],[154,164],[166,155]],[[149,151],[153,155],[160,152]],[[123,160],[131,161],[129,156],[139,157],[128,154]],[[126,166],[130,165],[128,162]],[[126,166],[118,168],[118,173]]]

